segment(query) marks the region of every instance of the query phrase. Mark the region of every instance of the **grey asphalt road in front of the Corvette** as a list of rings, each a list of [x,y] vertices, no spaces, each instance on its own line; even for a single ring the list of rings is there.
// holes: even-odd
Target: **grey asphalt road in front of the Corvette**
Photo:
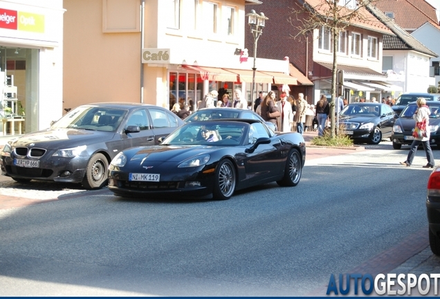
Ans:
[[[297,187],[228,201],[78,188],[0,210],[0,296],[325,296],[331,273],[386,271],[378,256],[427,235],[423,149],[402,167],[408,147],[390,147],[309,160]]]

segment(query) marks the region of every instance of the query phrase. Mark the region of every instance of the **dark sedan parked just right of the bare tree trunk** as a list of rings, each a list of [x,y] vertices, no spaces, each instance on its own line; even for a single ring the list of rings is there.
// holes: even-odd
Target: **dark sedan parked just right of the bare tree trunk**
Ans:
[[[398,116],[391,107],[378,102],[351,103],[339,114],[340,126],[345,134],[354,141],[374,145],[391,136],[396,118]]]

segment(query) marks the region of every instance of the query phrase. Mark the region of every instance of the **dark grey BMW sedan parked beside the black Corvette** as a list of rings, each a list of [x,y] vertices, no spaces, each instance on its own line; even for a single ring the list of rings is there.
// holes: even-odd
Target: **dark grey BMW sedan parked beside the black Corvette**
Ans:
[[[183,121],[167,109],[136,103],[76,107],[50,128],[9,141],[1,151],[1,174],[15,181],[107,183],[109,163],[122,149],[156,145]]]

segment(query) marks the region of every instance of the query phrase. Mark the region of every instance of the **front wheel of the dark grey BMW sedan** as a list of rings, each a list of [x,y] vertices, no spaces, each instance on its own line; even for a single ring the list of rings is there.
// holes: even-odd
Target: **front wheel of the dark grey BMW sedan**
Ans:
[[[86,189],[100,189],[107,183],[109,161],[103,154],[94,154],[87,163],[82,185]]]

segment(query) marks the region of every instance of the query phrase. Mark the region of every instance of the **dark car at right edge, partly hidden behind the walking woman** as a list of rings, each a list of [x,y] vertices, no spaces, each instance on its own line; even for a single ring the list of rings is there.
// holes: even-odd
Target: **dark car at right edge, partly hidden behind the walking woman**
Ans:
[[[426,105],[430,107],[430,145],[440,145],[440,102],[426,101]],[[400,117],[396,120],[393,127],[391,140],[394,149],[401,149],[402,145],[411,145],[414,137],[412,132],[416,126],[416,121],[412,116],[416,113],[417,104],[411,102],[403,109]]]

